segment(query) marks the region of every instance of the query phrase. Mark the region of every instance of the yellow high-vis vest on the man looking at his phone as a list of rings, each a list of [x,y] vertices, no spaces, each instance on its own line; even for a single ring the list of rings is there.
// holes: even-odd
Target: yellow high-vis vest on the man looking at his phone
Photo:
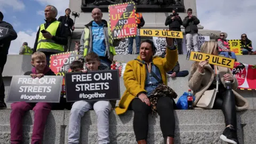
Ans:
[[[46,29],[44,27],[44,24],[40,26],[40,33],[37,41],[37,47],[36,51],[44,51],[44,52],[54,52],[54,53],[61,53],[64,52],[64,48],[62,45],[57,44],[52,39],[46,39],[43,37],[43,34],[41,33],[41,30],[48,31],[52,36],[56,35],[56,31],[59,27],[60,22],[54,21],[48,26]]]

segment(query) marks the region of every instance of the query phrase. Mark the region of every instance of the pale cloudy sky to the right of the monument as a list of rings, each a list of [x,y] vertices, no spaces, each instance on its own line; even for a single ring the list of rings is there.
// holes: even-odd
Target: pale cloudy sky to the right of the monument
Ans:
[[[245,33],[256,45],[255,0],[196,0],[196,5],[204,29],[226,32],[227,39],[240,39]]]

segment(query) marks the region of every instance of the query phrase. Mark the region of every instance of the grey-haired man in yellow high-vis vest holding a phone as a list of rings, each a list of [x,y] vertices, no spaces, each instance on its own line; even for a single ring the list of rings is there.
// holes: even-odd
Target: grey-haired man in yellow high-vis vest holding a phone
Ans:
[[[43,52],[49,65],[51,54],[64,52],[63,45],[67,45],[68,36],[61,22],[56,19],[58,10],[55,6],[47,5],[44,13],[46,20],[37,31],[33,51]]]

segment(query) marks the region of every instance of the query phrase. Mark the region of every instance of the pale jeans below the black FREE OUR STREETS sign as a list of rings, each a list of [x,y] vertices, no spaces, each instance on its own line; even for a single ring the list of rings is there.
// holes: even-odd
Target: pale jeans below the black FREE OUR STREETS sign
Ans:
[[[73,104],[68,124],[68,143],[79,143],[81,119],[84,113],[94,109],[98,117],[98,143],[107,144],[109,140],[109,112],[111,105],[109,101],[77,101]]]

